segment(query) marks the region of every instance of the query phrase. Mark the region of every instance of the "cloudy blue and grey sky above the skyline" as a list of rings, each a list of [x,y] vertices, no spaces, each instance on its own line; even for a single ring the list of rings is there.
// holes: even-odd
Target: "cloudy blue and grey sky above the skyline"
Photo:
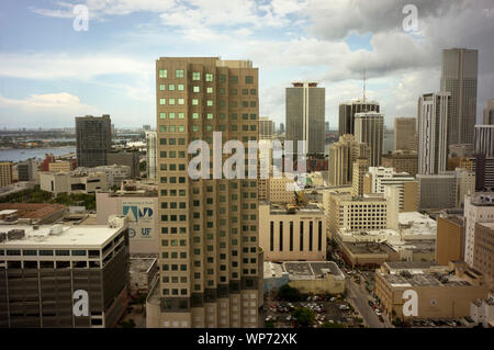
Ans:
[[[75,30],[80,4],[87,31]],[[333,129],[338,104],[362,97],[366,70],[367,98],[392,127],[439,90],[441,49],[452,47],[479,49],[480,121],[494,99],[493,34],[493,0],[1,0],[0,127],[74,127],[75,116],[101,114],[116,127],[154,126],[164,56],[251,60],[260,115],[277,125],[285,88],[317,81]]]

